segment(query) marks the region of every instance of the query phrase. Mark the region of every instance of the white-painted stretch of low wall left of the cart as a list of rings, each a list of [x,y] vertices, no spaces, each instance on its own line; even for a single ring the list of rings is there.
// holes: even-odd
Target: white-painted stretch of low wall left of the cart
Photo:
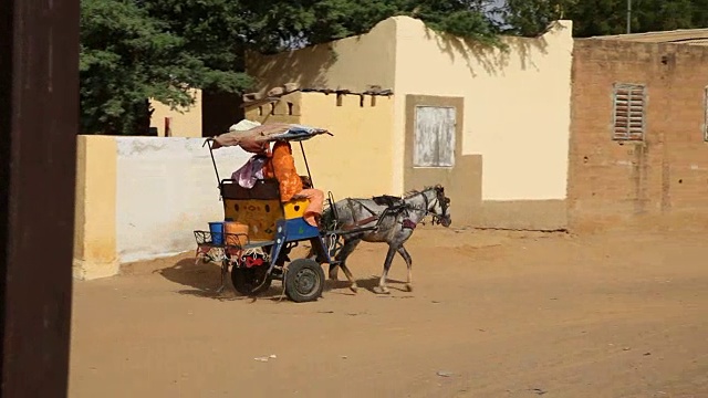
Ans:
[[[196,249],[192,231],[223,220],[209,149],[202,138],[118,137],[116,249],[132,262]],[[214,151],[219,176],[229,178],[250,154]]]

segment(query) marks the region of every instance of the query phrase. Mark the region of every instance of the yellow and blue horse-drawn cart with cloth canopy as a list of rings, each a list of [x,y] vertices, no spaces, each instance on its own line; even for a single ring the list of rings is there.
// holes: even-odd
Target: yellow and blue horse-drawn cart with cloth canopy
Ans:
[[[209,231],[199,230],[194,233],[197,255],[202,255],[205,261],[221,263],[219,290],[225,287],[230,268],[233,287],[243,295],[261,293],[269,289],[272,280],[279,280],[282,281],[290,300],[315,301],[321,296],[324,286],[322,264],[336,264],[333,259],[341,248],[340,238],[343,234],[377,228],[369,226],[343,231],[336,230],[335,226],[326,228],[317,224],[313,221],[312,214],[308,213],[311,198],[306,195],[283,198],[283,179],[279,180],[268,172],[262,172],[261,176],[259,172],[250,172],[249,169],[246,176],[250,181],[246,184],[238,176],[231,176],[229,179],[219,177],[214,158],[214,150],[219,147],[240,146],[254,154],[264,151],[268,155],[263,155],[261,159],[271,161],[269,156],[272,156],[272,143],[284,144],[290,150],[290,143],[298,142],[308,170],[306,177],[299,176],[300,181],[310,191],[316,191],[312,185],[302,142],[321,134],[332,135],[321,128],[271,125],[247,132],[227,133],[206,140],[205,145],[209,144],[211,161],[219,182],[225,216],[223,222],[211,222]],[[278,175],[277,169],[274,174]],[[331,193],[326,200],[330,206],[333,205]],[[310,243],[312,255],[291,260],[291,251],[302,242]]]

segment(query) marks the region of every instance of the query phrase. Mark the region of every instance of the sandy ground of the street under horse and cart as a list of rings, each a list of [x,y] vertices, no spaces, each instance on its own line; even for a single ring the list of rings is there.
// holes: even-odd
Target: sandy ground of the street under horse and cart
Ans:
[[[74,287],[70,397],[708,397],[705,234],[421,229],[357,295],[216,296],[190,254]],[[268,362],[256,360],[268,357]]]

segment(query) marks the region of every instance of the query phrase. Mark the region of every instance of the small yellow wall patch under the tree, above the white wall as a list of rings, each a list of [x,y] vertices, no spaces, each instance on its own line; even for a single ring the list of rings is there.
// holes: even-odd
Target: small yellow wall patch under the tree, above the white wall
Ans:
[[[165,136],[165,117],[171,117],[171,137],[201,137],[201,90],[192,90],[195,104],[187,108],[170,109],[159,101],[150,101],[154,108],[150,127],[157,127],[157,136]]]

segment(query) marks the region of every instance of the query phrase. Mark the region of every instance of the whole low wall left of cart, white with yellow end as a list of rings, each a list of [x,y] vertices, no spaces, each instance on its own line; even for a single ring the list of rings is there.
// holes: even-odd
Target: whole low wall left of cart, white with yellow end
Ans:
[[[192,230],[223,217],[202,138],[79,136],[74,276],[115,275],[124,262],[195,248]],[[246,163],[215,151],[221,178]]]

